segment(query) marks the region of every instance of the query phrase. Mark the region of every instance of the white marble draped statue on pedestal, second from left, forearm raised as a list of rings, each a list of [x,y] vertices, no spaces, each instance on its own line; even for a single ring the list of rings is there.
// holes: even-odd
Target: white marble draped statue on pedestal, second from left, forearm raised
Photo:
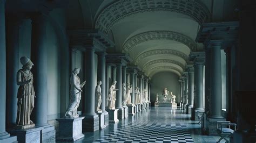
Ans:
[[[70,77],[70,98],[69,98],[69,106],[66,110],[65,117],[79,117],[77,113],[77,108],[79,106],[80,100],[81,100],[81,93],[82,88],[85,85],[84,81],[82,84],[80,84],[80,78],[77,76],[80,73],[80,68],[75,68],[72,71],[71,77]]]

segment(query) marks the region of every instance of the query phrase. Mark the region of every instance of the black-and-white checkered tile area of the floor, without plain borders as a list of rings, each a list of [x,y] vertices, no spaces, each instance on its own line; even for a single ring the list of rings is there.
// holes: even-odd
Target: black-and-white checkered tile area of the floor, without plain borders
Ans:
[[[193,142],[185,123],[171,116],[157,112],[131,119],[94,142]]]

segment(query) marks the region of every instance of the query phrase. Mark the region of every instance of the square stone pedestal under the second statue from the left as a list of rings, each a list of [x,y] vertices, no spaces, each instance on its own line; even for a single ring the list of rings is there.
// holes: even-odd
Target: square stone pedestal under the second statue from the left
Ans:
[[[56,119],[59,122],[59,136],[57,137],[57,141],[76,141],[83,138],[83,119],[84,117]]]

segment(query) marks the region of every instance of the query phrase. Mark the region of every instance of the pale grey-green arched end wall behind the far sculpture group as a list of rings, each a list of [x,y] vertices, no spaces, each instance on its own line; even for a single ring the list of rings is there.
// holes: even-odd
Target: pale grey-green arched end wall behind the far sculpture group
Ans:
[[[166,87],[171,91],[173,95],[176,95],[176,103],[180,100],[180,84],[179,84],[179,76],[177,74],[171,72],[161,72],[153,75],[151,78],[151,99],[152,104],[156,101],[156,94],[158,93],[158,100],[163,101],[163,90]],[[167,96],[167,98],[171,98],[171,96]]]

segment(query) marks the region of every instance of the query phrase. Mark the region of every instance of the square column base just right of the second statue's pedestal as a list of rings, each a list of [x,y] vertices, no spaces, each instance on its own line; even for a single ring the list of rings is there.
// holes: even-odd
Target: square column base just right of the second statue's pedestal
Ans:
[[[99,116],[98,115],[84,115],[83,132],[95,132],[99,130]]]

